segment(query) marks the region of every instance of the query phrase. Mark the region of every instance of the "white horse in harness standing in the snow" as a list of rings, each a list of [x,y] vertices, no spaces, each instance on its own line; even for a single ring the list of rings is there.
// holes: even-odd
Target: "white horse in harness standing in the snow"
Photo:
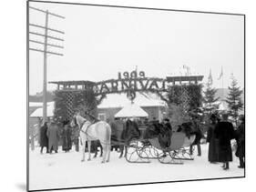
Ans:
[[[78,125],[80,128],[80,139],[82,142],[82,162],[85,161],[86,157],[86,142],[88,145],[88,161],[91,160],[91,141],[99,140],[103,148],[103,158],[101,163],[109,162],[110,158],[110,137],[111,137],[111,128],[105,121],[98,121],[97,123],[92,124],[86,118],[80,116],[79,113],[76,113],[71,122],[71,126]]]

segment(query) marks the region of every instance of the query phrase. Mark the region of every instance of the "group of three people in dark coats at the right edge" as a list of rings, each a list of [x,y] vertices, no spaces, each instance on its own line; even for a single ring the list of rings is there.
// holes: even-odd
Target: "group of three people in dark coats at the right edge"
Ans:
[[[223,163],[224,170],[230,168],[229,162],[232,161],[231,140],[236,140],[235,156],[240,159],[240,168],[244,168],[245,157],[245,132],[244,116],[240,117],[240,126],[235,130],[228,120],[228,115],[220,116],[212,114],[210,116],[210,125],[207,133],[207,142],[209,143],[208,160],[210,163]]]

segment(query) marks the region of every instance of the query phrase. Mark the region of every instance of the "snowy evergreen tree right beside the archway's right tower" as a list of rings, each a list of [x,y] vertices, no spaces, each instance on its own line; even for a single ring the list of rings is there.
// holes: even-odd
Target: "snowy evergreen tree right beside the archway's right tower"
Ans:
[[[203,91],[204,111],[207,114],[212,113],[213,111],[217,110],[219,107],[219,105],[216,104],[216,101],[219,100],[219,97],[215,97],[216,92],[217,92],[217,89],[212,87],[212,77],[211,77],[211,71],[210,71],[208,82],[206,84],[206,90]]]

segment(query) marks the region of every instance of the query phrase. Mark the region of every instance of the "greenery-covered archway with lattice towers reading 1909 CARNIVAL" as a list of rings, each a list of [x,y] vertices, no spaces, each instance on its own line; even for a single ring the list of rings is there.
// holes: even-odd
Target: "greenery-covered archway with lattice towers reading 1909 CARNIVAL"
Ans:
[[[92,115],[108,94],[125,93],[133,100],[136,93],[155,93],[168,106],[180,106],[182,116],[201,105],[201,85],[203,76],[147,77],[144,71],[118,73],[117,79],[100,82],[58,81],[55,91],[55,117],[70,119],[76,109],[83,108]]]

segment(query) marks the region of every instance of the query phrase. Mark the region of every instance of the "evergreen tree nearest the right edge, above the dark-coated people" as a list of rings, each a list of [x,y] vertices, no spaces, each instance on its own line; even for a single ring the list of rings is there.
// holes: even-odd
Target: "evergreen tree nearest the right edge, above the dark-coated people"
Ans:
[[[242,90],[241,87],[238,86],[238,82],[234,76],[231,76],[231,85],[229,86],[229,95],[226,97],[225,100],[228,103],[229,107],[229,115],[233,118],[236,123],[238,124],[238,116],[239,111],[243,107],[243,103],[241,101],[241,94]]]

